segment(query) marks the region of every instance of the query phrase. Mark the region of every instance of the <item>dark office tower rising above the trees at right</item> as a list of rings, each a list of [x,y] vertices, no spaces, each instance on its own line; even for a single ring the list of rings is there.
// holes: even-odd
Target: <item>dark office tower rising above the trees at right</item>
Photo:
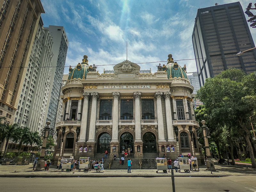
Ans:
[[[239,2],[198,9],[192,40],[200,86],[228,68],[256,70],[255,49],[236,56],[255,47]]]

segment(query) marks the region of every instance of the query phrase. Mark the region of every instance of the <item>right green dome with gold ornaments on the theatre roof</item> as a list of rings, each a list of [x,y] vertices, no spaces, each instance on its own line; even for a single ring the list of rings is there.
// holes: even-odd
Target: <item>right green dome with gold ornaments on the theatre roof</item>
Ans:
[[[184,67],[180,67],[177,62],[173,62],[172,54],[168,55],[168,63],[167,63],[167,74],[168,78],[185,78],[188,79],[187,76],[187,68],[186,65]]]

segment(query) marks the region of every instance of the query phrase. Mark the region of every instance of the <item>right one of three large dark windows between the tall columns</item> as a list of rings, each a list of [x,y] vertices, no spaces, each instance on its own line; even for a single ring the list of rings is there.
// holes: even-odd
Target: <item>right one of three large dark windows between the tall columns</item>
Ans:
[[[141,100],[142,119],[155,119],[154,100]]]

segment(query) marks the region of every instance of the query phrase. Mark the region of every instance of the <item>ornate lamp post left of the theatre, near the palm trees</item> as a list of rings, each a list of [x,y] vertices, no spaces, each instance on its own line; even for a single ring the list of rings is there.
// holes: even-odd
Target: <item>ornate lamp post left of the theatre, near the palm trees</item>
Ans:
[[[48,138],[48,133],[50,130],[49,124],[51,124],[50,121],[47,121],[46,126],[42,130],[42,133],[44,134],[44,140],[43,140],[43,144],[42,144],[40,159],[36,164],[36,171],[42,171],[44,169],[44,164],[45,164],[44,154],[45,154],[45,147],[46,147],[46,142],[47,142],[47,138]]]

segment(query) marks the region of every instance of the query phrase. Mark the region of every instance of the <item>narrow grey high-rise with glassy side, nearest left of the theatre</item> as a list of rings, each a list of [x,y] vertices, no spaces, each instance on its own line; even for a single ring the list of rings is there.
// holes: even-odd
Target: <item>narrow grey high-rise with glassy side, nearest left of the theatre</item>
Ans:
[[[68,37],[64,27],[49,25],[47,28],[53,40],[52,57],[52,76],[50,79],[51,94],[47,102],[47,111],[45,111],[45,122],[50,121],[50,127],[54,128],[60,98],[60,88],[64,72],[66,56],[68,51]],[[44,122],[44,123],[45,123]]]

